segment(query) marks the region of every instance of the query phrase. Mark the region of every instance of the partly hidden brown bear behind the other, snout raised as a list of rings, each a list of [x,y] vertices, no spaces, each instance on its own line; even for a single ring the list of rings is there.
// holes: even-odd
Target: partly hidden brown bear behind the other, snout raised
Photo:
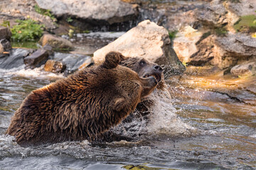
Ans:
[[[149,62],[141,57],[124,57],[122,56],[120,65],[128,67],[139,74],[139,77],[153,76],[158,81],[156,89],[153,93],[164,92],[169,94],[166,89],[166,83],[164,81],[163,69],[154,62]],[[137,105],[136,110],[125,118],[122,123],[115,126],[110,131],[100,138],[100,142],[112,142],[119,140],[136,140],[138,135],[143,135],[140,130],[146,127],[151,115],[150,108],[154,106],[154,101],[151,98],[143,98],[143,100]],[[146,132],[144,132],[145,134]]]

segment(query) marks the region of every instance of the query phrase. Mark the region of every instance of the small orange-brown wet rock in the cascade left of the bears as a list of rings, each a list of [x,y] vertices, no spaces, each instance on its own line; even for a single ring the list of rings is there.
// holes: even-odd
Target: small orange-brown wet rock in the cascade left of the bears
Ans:
[[[55,61],[55,60],[47,60],[43,69],[46,72],[61,73],[61,72],[65,71],[66,65],[63,64],[62,62],[58,62],[58,61]]]

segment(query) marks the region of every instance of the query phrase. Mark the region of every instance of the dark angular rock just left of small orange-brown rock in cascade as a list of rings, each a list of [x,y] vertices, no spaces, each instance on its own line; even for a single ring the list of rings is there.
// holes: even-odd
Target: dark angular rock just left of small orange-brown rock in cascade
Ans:
[[[24,64],[31,68],[40,67],[42,64],[46,63],[48,57],[49,55],[46,50],[38,49],[36,52],[33,52],[32,55],[24,58]]]

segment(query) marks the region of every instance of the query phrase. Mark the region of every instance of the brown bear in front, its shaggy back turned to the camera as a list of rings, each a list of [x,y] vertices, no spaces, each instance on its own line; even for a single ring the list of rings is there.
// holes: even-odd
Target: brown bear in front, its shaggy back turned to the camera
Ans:
[[[157,85],[119,64],[123,56],[110,52],[105,62],[32,91],[6,131],[19,145],[97,140],[132,113]]]

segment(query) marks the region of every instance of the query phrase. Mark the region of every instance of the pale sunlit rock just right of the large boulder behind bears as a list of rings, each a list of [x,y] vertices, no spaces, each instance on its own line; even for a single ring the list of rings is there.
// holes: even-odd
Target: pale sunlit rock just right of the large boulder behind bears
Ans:
[[[198,51],[196,42],[200,40],[203,33],[186,26],[176,34],[174,39],[174,50],[181,62],[190,62],[190,57]]]

